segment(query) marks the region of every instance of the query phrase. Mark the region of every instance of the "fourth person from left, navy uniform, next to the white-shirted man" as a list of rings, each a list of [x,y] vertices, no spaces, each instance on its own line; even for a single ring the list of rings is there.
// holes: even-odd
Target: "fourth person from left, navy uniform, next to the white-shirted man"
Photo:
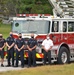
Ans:
[[[36,66],[36,46],[37,40],[34,39],[34,34],[31,34],[31,38],[28,40],[28,67],[31,67],[31,62],[33,61],[33,67]],[[32,59],[32,61],[31,61]]]

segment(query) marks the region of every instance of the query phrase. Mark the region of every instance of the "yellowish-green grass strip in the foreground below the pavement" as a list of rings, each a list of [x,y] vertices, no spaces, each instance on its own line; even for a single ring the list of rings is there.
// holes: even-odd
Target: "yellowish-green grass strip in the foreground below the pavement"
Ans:
[[[39,66],[18,71],[0,72],[0,75],[74,75],[74,64]]]

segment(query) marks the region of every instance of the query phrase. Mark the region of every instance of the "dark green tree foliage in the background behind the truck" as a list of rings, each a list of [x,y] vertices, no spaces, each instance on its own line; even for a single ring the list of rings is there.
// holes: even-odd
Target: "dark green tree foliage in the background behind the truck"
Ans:
[[[9,16],[17,13],[49,13],[52,7],[48,0],[0,0],[0,14]]]

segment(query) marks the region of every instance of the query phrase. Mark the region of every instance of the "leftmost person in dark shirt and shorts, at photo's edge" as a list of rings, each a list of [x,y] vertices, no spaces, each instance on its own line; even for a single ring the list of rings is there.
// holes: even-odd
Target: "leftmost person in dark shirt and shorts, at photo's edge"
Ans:
[[[4,47],[5,47],[5,39],[2,34],[0,34],[0,56],[1,56],[1,67],[4,67]]]

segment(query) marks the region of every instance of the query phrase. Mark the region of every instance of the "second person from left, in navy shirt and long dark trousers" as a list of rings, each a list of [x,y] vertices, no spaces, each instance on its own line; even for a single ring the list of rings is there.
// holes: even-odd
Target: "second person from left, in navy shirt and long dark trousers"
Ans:
[[[7,39],[6,39],[7,55],[8,55],[8,58],[7,58],[8,65],[6,67],[11,66],[11,63],[10,63],[11,58],[12,58],[12,66],[14,66],[14,44],[15,44],[15,41],[14,41],[14,38],[12,35],[13,35],[13,33],[10,32],[10,36],[7,37]]]

